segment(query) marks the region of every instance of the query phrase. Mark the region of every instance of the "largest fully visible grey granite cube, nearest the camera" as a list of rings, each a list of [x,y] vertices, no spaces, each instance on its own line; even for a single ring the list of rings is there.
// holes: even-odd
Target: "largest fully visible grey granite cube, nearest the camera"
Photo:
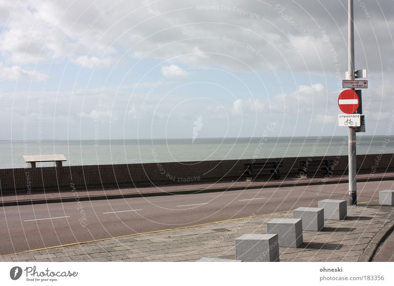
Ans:
[[[244,234],[236,238],[235,259],[244,262],[278,262],[278,235]]]

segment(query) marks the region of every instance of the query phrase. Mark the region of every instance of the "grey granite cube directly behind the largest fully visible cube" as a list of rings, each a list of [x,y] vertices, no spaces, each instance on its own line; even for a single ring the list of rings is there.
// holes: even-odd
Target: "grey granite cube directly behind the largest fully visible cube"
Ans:
[[[267,223],[267,233],[277,233],[279,246],[297,248],[302,244],[300,219],[272,219]]]

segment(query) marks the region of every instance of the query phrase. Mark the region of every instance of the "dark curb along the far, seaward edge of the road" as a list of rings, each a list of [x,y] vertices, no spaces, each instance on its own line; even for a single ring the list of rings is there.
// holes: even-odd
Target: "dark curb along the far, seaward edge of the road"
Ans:
[[[360,178],[357,182],[372,182],[372,181],[387,181],[394,180],[394,176],[386,177],[372,177],[372,178]],[[235,187],[221,187],[221,188],[209,188],[209,189],[193,189],[193,190],[180,190],[174,192],[151,192],[151,193],[132,193],[132,194],[114,194],[114,195],[98,195],[98,196],[84,196],[78,197],[79,200],[112,200],[112,199],[125,199],[125,198],[143,198],[143,197],[156,197],[156,196],[172,196],[172,195],[190,195],[190,194],[204,194],[204,193],[215,193],[215,192],[227,192],[227,191],[239,191],[239,190],[252,190],[252,189],[264,189],[264,188],[279,188],[279,187],[294,187],[294,186],[312,186],[320,184],[341,184],[348,183],[348,179],[337,179],[327,181],[309,181],[309,182],[297,182],[295,185],[292,183],[274,183],[274,184],[262,184],[254,186],[235,186]],[[0,201],[0,207],[3,206],[15,206],[15,205],[29,205],[39,203],[55,203],[55,202],[70,202],[75,201],[75,197],[67,198],[51,198],[51,199],[37,199],[37,200],[10,200]]]

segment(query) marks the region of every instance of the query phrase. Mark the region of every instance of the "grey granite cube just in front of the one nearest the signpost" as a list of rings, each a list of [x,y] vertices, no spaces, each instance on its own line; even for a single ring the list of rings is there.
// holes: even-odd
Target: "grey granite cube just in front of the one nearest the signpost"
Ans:
[[[324,227],[324,208],[298,207],[293,211],[293,218],[302,220],[302,229],[319,231]]]

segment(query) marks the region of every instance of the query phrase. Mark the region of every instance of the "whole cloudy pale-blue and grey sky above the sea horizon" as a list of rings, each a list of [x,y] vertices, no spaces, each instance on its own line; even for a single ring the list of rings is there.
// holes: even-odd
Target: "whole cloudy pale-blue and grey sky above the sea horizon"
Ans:
[[[0,140],[346,136],[347,3],[1,1]],[[358,136],[393,132],[393,10],[354,0]]]

